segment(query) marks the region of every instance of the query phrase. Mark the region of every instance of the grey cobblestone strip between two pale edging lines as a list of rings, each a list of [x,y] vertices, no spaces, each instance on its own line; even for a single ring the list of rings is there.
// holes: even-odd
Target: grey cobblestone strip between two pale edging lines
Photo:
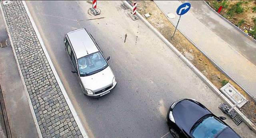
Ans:
[[[22,1],[1,4],[42,136],[82,138]]]

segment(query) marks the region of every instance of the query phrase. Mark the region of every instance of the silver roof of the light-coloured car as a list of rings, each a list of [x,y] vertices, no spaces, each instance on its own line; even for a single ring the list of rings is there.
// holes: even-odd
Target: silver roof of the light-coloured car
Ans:
[[[76,58],[81,58],[99,51],[86,29],[77,29],[67,33],[67,35],[76,54]]]

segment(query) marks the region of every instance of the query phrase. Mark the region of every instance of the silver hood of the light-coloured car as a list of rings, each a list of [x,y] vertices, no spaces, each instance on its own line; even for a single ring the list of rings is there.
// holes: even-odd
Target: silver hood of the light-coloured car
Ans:
[[[108,66],[107,68],[105,68],[104,70],[96,74],[92,74],[90,76],[84,76],[80,78],[86,89],[90,89],[96,92],[96,91],[102,90],[103,88],[111,86],[112,80],[114,78],[114,74],[110,66]]]

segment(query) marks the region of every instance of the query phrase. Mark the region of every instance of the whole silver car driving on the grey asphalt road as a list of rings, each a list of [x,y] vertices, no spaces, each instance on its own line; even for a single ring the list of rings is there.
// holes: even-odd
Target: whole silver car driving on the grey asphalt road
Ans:
[[[64,36],[65,50],[82,91],[88,97],[110,93],[117,82],[108,61],[86,29],[77,29]]]

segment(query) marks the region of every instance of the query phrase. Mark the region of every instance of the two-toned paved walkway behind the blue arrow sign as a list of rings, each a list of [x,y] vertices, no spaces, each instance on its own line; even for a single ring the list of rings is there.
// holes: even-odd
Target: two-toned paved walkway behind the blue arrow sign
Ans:
[[[154,2],[165,15],[168,13],[176,15],[176,9],[184,1],[156,0]],[[243,87],[251,94],[251,97],[254,97],[255,99],[256,66],[252,63],[255,60],[255,52],[252,52],[256,49],[255,42],[246,37],[235,27],[232,27],[229,23],[224,23],[226,21],[220,16],[216,16],[204,1],[189,2],[191,3],[191,10],[181,17],[178,29],[211,60],[213,60],[218,68],[226,72],[226,74],[233,78],[240,87]],[[198,11],[202,12],[200,12],[200,16],[195,17],[192,13]],[[178,22],[178,15],[176,15],[176,18],[174,19],[168,19],[176,26]],[[208,19],[208,22],[203,21],[204,19]],[[224,32],[221,31],[223,33],[221,35],[221,33],[216,33],[216,30],[218,30],[216,28],[227,28],[228,30],[224,30]],[[242,41],[242,43],[228,41],[229,39]],[[246,52],[243,52],[245,56],[249,57],[249,60],[254,59],[252,62],[238,52],[242,52],[243,49],[252,52],[252,54],[250,52],[248,52],[248,54],[244,54]]]

